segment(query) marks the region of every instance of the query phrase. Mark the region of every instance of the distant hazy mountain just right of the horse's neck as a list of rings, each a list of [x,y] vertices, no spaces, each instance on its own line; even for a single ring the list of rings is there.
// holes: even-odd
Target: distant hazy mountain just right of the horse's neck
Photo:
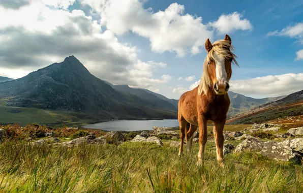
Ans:
[[[237,113],[245,112],[254,107],[258,107],[266,103],[274,102],[285,97],[285,96],[281,96],[281,97],[273,97],[273,98],[254,99],[232,91],[228,91],[228,95],[231,103],[229,107],[228,115],[235,115]]]

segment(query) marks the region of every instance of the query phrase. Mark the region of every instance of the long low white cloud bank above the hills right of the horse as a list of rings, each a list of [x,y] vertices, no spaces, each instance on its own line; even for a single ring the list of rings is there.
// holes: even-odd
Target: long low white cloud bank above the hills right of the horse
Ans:
[[[278,97],[303,89],[303,73],[231,80],[230,90],[250,97]]]

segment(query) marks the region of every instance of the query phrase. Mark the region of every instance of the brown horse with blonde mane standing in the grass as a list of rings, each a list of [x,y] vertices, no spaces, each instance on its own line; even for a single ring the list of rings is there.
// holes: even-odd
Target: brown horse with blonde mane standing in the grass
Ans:
[[[217,160],[223,164],[223,128],[225,125],[230,100],[228,97],[231,77],[231,63],[238,65],[231,50],[231,39],[225,35],[224,40],[211,44],[206,40],[207,55],[203,64],[203,75],[199,86],[181,95],[178,102],[178,121],[181,131],[179,155],[183,152],[184,137],[187,150],[190,151],[193,134],[199,126],[198,164],[204,159],[207,141],[207,120],[214,122],[214,134],[217,146]],[[189,139],[189,140],[188,140]]]

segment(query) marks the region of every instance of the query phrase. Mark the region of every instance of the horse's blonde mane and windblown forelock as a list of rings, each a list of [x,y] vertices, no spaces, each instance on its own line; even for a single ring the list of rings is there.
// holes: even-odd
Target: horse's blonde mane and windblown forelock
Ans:
[[[230,48],[230,51],[228,48]],[[239,66],[238,62],[235,59],[237,56],[234,53],[232,53],[232,50],[234,50],[234,47],[231,44],[231,41],[217,40],[216,42],[214,42],[213,47],[207,53],[204,63],[203,63],[203,74],[201,76],[200,84],[198,87],[199,95],[201,95],[202,92],[204,92],[204,94],[207,94],[208,87],[211,86],[211,81],[210,81],[209,74],[208,74],[208,64],[210,63],[210,60],[216,61],[216,59],[214,57],[214,52],[216,52],[217,55],[220,55],[220,56],[223,56],[226,58],[232,57],[233,58],[232,63]]]

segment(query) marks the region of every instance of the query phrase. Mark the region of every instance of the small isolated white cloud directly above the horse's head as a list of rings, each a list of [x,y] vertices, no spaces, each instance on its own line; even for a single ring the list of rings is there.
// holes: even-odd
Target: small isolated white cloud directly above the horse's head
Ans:
[[[228,15],[222,14],[217,21],[209,22],[208,25],[215,28],[219,34],[232,33],[235,30],[251,30],[253,25],[247,19],[241,19],[243,15],[234,12]]]

